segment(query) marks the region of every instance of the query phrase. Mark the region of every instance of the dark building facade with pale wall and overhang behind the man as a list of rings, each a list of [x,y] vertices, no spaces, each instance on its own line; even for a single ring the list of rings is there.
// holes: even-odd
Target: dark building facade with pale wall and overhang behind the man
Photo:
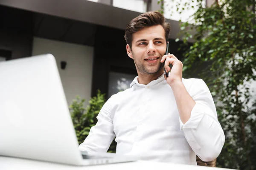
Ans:
[[[93,2],[94,1],[94,2]],[[131,2],[132,1],[132,2]],[[125,49],[125,28],[158,0],[1,0],[0,61],[53,54],[70,104],[99,89],[107,98],[137,76]],[[171,24],[170,49],[179,59],[179,22]],[[61,62],[66,68],[61,69]]]

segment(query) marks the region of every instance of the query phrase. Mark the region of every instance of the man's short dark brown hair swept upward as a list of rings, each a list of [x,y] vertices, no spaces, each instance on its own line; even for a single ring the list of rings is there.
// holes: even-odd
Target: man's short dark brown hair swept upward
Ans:
[[[165,22],[163,14],[158,11],[149,11],[140,14],[138,17],[132,19],[125,29],[125,41],[131,48],[132,36],[135,32],[150,26],[163,26],[165,31],[166,41],[170,33],[170,24]]]

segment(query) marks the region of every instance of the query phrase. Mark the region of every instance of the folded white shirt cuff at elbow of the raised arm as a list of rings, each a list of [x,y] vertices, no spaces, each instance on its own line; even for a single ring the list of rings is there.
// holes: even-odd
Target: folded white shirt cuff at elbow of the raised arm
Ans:
[[[195,106],[192,108],[189,120],[185,124],[183,124],[180,119],[180,130],[183,131],[183,128],[196,129],[203,117],[204,112],[202,111],[202,109],[200,109],[200,105],[195,103]]]

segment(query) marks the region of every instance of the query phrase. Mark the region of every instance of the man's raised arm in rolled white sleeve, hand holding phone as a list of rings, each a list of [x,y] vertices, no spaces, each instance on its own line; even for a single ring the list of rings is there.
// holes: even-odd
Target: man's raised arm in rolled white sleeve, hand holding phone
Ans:
[[[209,88],[202,79],[195,79],[190,96],[181,78],[183,64],[173,54],[163,56],[161,62],[165,60],[166,71],[171,71],[165,79],[175,96],[181,130],[199,158],[212,161],[221,152],[225,136]],[[172,70],[169,64],[172,64]]]

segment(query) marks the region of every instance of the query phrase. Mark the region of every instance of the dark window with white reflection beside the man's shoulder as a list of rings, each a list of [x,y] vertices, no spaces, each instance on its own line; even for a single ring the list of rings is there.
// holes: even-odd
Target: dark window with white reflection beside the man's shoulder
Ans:
[[[111,71],[109,73],[108,98],[120,91],[130,88],[131,82],[137,75],[117,73]]]

